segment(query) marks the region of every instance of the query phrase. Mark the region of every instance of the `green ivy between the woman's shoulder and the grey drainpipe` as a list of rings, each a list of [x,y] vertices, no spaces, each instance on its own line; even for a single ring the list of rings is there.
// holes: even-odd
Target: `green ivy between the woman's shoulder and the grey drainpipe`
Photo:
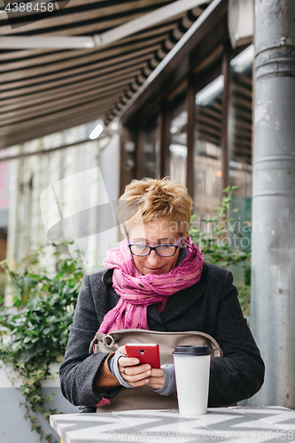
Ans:
[[[242,237],[234,229],[236,221],[235,214],[239,212],[237,208],[231,208],[233,191],[238,190],[237,186],[228,186],[223,190],[224,196],[221,206],[215,207],[216,216],[210,220],[201,219],[207,229],[199,229],[196,224],[196,215],[192,215],[190,224],[190,237],[193,243],[199,246],[204,259],[213,265],[229,268],[232,265],[244,268],[244,285],[237,288],[239,300],[244,315],[249,315],[250,309],[250,284],[251,284],[251,250],[239,247],[233,248],[230,245],[232,237]]]

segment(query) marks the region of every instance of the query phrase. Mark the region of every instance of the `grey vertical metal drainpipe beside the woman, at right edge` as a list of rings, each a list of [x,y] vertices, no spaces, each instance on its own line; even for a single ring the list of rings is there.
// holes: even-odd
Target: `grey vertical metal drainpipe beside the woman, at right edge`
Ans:
[[[255,0],[254,338],[266,378],[252,404],[295,408],[295,1]]]

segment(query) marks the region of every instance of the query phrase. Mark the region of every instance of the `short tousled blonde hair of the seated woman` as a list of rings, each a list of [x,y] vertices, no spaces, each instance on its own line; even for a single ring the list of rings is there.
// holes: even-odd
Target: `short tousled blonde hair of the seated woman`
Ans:
[[[134,221],[151,221],[165,217],[177,224],[183,240],[188,236],[192,199],[182,183],[162,179],[144,178],[129,183],[120,196],[117,214],[121,231],[127,234],[127,225]]]

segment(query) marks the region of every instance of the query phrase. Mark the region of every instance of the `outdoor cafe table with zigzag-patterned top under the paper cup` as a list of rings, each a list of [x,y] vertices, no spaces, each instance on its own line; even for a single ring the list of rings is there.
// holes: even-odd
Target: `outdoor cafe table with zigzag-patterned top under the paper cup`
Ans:
[[[190,418],[170,409],[61,414],[50,424],[66,443],[295,441],[295,410],[279,406],[209,408]]]

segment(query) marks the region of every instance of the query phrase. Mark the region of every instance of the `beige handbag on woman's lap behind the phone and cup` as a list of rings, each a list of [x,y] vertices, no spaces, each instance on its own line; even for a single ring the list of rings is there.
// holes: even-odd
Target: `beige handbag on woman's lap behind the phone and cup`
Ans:
[[[212,357],[222,357],[221,346],[205,332],[194,330],[184,332],[158,332],[156,330],[113,330],[108,334],[97,332],[89,346],[89,354],[110,353],[126,343],[155,343],[159,345],[160,363],[173,363],[175,346],[206,345]],[[150,386],[136,388],[121,387],[120,392],[110,399],[111,404],[97,408],[97,412],[132,409],[177,409],[175,394],[159,395]]]

